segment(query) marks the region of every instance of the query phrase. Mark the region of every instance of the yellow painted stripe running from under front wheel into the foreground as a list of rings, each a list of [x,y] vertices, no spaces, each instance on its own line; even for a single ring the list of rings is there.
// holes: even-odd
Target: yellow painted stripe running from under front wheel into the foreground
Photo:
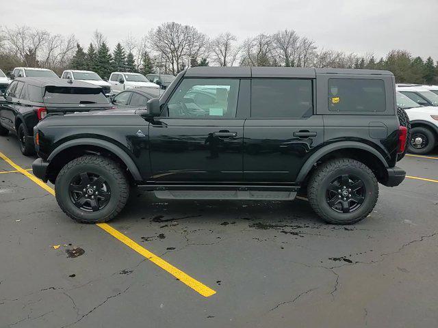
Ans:
[[[183,271],[175,268],[172,264],[169,264],[162,258],[159,258],[155,254],[151,253],[151,251],[148,251],[144,247],[138,245],[135,241],[133,241],[131,238],[128,238],[124,234],[120,233],[118,230],[112,228],[107,223],[97,223],[97,226],[105,230],[107,233],[111,234],[115,238],[117,238],[119,241],[136,251],[138,254],[144,256],[151,262],[157,264],[158,267],[162,268],[164,271],[167,271],[174,277],[178,278],[181,282],[189,286],[190,288],[196,290],[199,294],[209,297],[211,295],[216,294],[214,290],[209,288],[208,286],[205,286],[201,282],[198,282],[196,279],[193,279],[188,275],[187,273],[184,273]]]

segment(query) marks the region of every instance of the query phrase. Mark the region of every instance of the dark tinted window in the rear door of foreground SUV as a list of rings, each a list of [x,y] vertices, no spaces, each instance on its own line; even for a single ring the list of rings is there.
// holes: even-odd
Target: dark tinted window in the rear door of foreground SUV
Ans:
[[[312,81],[253,79],[251,118],[307,118],[313,113]]]

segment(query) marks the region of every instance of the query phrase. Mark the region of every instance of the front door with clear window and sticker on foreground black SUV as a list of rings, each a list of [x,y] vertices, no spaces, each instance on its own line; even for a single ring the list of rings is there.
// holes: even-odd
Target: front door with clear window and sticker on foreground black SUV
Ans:
[[[239,85],[239,79],[183,79],[149,126],[153,180],[242,181]]]

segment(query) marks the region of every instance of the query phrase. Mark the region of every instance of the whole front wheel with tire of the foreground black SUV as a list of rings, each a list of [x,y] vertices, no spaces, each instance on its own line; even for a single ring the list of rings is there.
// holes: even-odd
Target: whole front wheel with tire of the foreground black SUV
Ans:
[[[120,166],[103,156],[85,155],[62,167],[55,181],[61,209],[81,223],[116,217],[129,197],[129,182]]]

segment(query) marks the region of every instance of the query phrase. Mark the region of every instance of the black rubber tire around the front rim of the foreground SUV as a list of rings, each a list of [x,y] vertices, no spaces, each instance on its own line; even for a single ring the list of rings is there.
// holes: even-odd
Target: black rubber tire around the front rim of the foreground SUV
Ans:
[[[110,185],[111,198],[108,204],[96,212],[77,208],[70,199],[68,186],[81,172],[103,176]],[[116,217],[129,198],[129,182],[123,169],[116,162],[103,156],[85,155],[68,162],[62,167],[55,181],[56,200],[66,215],[80,223],[102,223]]]

